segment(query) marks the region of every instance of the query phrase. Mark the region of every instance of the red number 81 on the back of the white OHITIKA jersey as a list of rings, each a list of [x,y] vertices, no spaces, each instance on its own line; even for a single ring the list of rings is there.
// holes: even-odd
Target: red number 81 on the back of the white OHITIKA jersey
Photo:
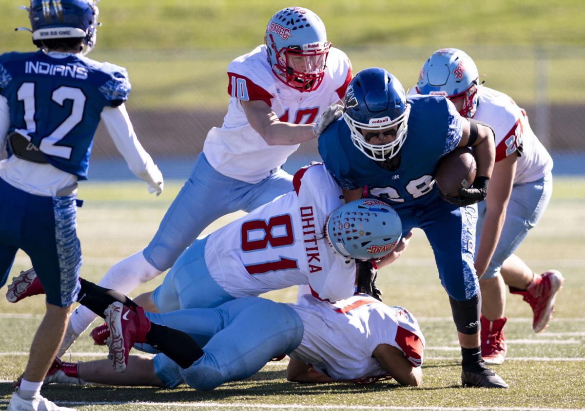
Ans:
[[[275,234],[277,233],[277,234]],[[257,252],[271,248],[287,247],[294,244],[292,220],[288,214],[270,217],[266,220],[249,220],[242,224],[242,251]],[[278,260],[264,261],[258,264],[245,265],[250,274],[263,274],[269,271],[298,269],[297,260],[279,256]]]

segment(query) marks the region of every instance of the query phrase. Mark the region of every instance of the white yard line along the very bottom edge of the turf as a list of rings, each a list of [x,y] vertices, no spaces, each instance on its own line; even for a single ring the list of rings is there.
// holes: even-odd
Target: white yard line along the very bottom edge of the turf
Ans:
[[[253,409],[269,409],[269,410],[408,410],[408,411],[476,411],[477,407],[401,407],[401,406],[369,406],[369,405],[300,405],[300,404],[250,404],[250,403],[219,403],[219,402],[128,402],[128,401],[59,401],[63,405],[126,405],[126,406],[147,406],[147,407],[185,407],[185,408],[253,408]],[[8,404],[8,401],[0,401],[0,404]],[[546,408],[546,407],[486,407],[481,406],[482,410],[493,411],[579,411],[576,408]],[[583,409],[581,409],[582,411]]]

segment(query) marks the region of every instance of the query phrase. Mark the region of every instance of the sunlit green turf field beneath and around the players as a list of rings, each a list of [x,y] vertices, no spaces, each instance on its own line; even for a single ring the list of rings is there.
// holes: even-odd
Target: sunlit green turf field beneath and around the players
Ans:
[[[160,198],[149,196],[139,183],[87,183],[78,213],[78,234],[84,253],[82,275],[97,281],[107,268],[146,246],[180,188],[167,182]],[[421,231],[415,232],[408,252],[378,276],[384,302],[407,307],[421,323],[427,350],[424,384],[400,388],[392,382],[371,386],[353,384],[291,384],[285,381],[285,361],[273,362],[246,381],[225,384],[212,392],[187,386],[175,390],[111,388],[106,386],[47,386],[44,394],[80,410],[552,410],[585,408],[585,180],[557,178],[549,208],[518,250],[536,272],[556,268],[566,278],[556,304],[555,319],[542,334],[531,328],[531,310],[518,296],[508,295],[508,358],[494,367],[511,388],[505,391],[459,387],[460,354],[446,293],[441,288],[432,253]],[[208,230],[229,222],[223,217]],[[29,267],[19,254],[14,272]],[[162,278],[143,285],[153,289]],[[5,290],[5,288],[4,288]],[[3,291],[4,291],[3,290]],[[295,289],[272,292],[269,298],[294,301]],[[18,304],[0,299],[0,408],[10,398],[10,381],[25,367],[27,351],[44,301],[40,296]],[[103,358],[85,335],[73,346],[72,359]],[[95,353],[95,354],[94,354]],[[67,358],[68,360],[68,358]]]

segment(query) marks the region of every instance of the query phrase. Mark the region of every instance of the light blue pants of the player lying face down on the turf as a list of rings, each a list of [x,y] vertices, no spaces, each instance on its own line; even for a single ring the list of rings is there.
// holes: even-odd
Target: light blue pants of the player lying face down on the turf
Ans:
[[[146,315],[154,323],[207,341],[204,355],[186,369],[164,354],[154,357],[154,372],[169,387],[186,382],[191,388],[209,390],[248,378],[271,358],[297,348],[304,331],[290,306],[258,297],[239,298],[211,309]]]

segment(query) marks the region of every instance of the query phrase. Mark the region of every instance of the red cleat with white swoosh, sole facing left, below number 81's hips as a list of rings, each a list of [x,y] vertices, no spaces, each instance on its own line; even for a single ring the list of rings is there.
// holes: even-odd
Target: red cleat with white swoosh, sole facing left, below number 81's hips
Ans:
[[[150,330],[150,320],[144,316],[143,308],[138,307],[135,312],[121,302],[110,304],[104,314],[110,332],[106,340],[108,358],[112,360],[116,371],[124,372],[132,346],[147,342],[146,333]]]

